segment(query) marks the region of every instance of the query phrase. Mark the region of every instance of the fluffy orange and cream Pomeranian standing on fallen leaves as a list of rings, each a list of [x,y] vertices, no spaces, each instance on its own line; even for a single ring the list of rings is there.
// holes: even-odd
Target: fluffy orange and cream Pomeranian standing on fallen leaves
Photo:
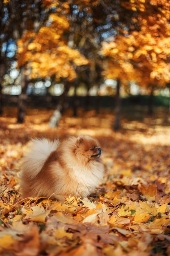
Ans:
[[[22,162],[24,198],[44,196],[63,201],[69,195],[86,197],[102,182],[102,149],[90,136],[33,139]]]

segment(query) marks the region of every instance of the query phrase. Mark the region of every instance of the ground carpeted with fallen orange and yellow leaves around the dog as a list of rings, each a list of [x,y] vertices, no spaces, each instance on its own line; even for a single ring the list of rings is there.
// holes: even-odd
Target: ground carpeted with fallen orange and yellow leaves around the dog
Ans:
[[[112,130],[105,110],[70,110],[49,128],[51,110],[17,110],[0,117],[0,255],[152,256],[170,255],[170,127],[156,113],[142,121],[122,119]],[[165,119],[166,118],[166,119]],[[87,134],[99,139],[106,165],[103,184],[89,198],[23,200],[20,158],[32,137]]]

